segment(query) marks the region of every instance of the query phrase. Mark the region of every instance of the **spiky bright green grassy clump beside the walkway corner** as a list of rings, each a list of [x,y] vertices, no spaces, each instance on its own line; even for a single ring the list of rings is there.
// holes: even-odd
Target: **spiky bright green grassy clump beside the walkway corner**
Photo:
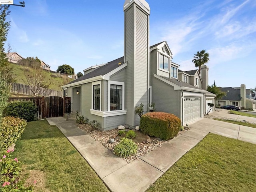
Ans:
[[[122,138],[120,143],[114,148],[114,153],[122,158],[127,158],[130,155],[135,155],[138,151],[138,146],[128,138]]]

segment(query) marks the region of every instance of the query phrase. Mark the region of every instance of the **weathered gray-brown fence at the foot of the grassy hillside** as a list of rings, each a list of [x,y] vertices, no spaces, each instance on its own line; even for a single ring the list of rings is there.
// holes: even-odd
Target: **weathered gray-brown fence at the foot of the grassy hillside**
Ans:
[[[21,95],[31,95],[33,96],[33,92],[30,90],[29,85],[25,84],[20,84],[20,83],[12,83],[11,84],[11,93],[14,94],[21,94]],[[50,96],[58,96],[58,97],[63,97],[63,93],[61,91],[56,91],[52,89],[46,89],[43,88],[42,91],[43,94],[40,94],[38,96],[45,96],[45,97],[50,97]]]

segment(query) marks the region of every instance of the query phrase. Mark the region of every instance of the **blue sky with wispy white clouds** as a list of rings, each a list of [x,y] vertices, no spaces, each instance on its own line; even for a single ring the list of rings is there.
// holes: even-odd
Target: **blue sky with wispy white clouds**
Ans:
[[[82,72],[124,55],[124,0],[25,0],[11,6],[8,43],[56,70]],[[194,54],[210,54],[209,84],[256,86],[255,0],[147,0],[150,45],[167,41],[181,70],[196,69]],[[18,4],[18,0],[14,0]]]

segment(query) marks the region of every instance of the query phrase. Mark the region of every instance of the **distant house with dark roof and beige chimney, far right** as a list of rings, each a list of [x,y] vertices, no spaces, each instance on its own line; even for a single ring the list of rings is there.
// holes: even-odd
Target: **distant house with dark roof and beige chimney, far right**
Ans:
[[[252,95],[249,94],[244,84],[241,84],[240,87],[222,87],[220,88],[223,92],[226,92],[226,96],[222,97],[219,100],[216,100],[216,105],[234,105],[244,108],[255,109],[256,100],[252,99]],[[248,93],[248,94],[247,94]],[[251,97],[251,98],[247,98]]]

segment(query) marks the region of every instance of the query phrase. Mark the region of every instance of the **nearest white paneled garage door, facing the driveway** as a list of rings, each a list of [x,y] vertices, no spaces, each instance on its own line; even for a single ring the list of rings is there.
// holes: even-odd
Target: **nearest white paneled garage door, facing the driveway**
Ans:
[[[200,117],[200,97],[184,97],[184,124]]]

